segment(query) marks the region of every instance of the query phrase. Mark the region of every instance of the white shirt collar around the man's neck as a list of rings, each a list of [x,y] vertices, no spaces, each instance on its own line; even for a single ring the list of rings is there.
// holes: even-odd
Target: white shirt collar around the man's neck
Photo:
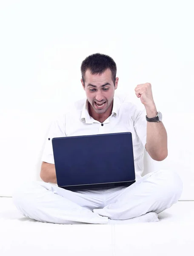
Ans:
[[[117,96],[114,96],[111,116],[116,117],[119,113],[119,108],[120,108],[119,99],[117,98]],[[83,105],[82,114],[81,114],[81,121],[82,122],[85,121],[86,123],[91,123],[91,124],[93,122],[95,122],[95,120],[88,113],[88,100],[87,99],[86,99],[86,101]]]

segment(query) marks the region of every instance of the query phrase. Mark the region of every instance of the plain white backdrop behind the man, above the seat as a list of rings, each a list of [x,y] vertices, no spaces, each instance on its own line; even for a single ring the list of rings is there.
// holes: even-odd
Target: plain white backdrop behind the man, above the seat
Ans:
[[[168,157],[145,157],[146,172],[174,169],[182,200],[194,200],[193,1],[0,1],[0,196],[40,180],[52,119],[85,96],[81,62],[110,55],[117,93],[141,105],[149,82],[168,134]]]

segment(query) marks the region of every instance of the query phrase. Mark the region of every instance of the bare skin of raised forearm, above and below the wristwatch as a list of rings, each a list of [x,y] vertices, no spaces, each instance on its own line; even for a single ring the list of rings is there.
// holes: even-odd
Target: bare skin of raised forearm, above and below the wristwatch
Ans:
[[[148,118],[157,115],[155,105],[146,107]],[[162,122],[147,122],[145,148],[152,159],[163,161],[168,156],[167,133]]]

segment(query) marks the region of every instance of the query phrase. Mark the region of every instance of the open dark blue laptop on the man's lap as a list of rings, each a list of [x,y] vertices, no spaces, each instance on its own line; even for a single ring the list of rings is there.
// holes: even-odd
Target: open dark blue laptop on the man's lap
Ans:
[[[131,132],[52,139],[57,185],[63,189],[130,186],[135,182]]]

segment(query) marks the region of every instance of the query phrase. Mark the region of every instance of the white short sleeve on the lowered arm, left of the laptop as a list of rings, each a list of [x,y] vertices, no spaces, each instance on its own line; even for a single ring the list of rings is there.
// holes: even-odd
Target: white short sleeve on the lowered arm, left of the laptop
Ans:
[[[66,137],[65,128],[65,116],[63,118],[58,118],[56,120],[51,121],[41,158],[43,162],[54,164],[52,138]]]

